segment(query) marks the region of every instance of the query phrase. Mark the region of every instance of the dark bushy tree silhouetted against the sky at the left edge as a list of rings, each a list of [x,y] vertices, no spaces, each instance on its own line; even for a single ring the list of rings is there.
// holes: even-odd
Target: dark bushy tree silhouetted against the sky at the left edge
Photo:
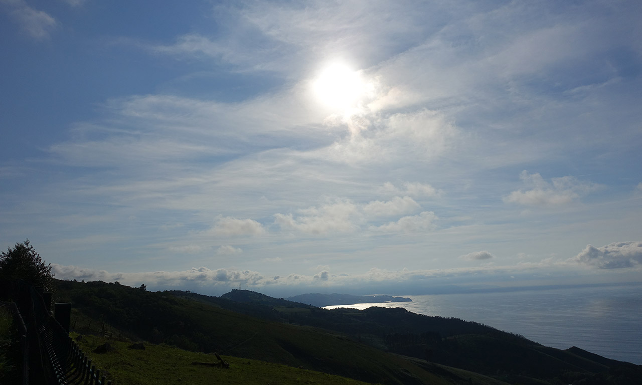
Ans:
[[[42,287],[43,291],[51,289],[53,280],[51,264],[42,261],[40,254],[29,244],[29,239],[16,243],[14,248],[7,248],[0,255],[0,276],[25,280]]]

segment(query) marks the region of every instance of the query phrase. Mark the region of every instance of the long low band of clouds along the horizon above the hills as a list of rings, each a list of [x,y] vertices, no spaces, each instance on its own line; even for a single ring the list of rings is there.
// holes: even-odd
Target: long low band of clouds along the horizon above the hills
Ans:
[[[474,254],[474,253],[473,253]],[[476,255],[487,257],[489,253]],[[482,258],[483,259],[483,258]],[[295,295],[322,292],[343,293],[438,293],[452,291],[456,285],[465,287],[494,287],[494,282],[510,277],[514,285],[537,285],[537,277],[560,275],[560,266],[546,260],[540,264],[519,264],[517,266],[483,266],[477,268],[451,269],[401,269],[388,270],[371,268],[363,273],[331,273],[329,269],[316,269],[311,275],[290,273],[288,275],[267,275],[248,269],[210,269],[204,266],[186,271],[150,271],[139,273],[110,273],[105,270],[85,269],[78,266],[52,264],[56,278],[68,280],[119,281],[121,284],[137,287],[144,283],[150,289],[164,290],[175,287],[195,290],[203,294],[220,295],[241,284],[250,290],[262,293]],[[568,265],[569,266],[569,265]],[[568,267],[567,266],[567,267]],[[322,266],[317,266],[321,268]],[[327,267],[327,266],[326,266]],[[555,267],[555,270],[551,268]],[[562,266],[563,268],[564,266]],[[573,275],[571,270],[564,271]],[[514,277],[517,277],[515,279]],[[545,282],[546,283],[546,282]],[[490,285],[490,286],[489,286]],[[446,292],[444,291],[444,292]]]

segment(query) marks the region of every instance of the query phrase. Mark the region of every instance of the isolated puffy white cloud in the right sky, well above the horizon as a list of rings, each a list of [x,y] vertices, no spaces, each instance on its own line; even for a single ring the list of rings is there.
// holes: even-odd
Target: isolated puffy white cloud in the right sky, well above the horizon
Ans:
[[[526,170],[519,174],[519,178],[531,189],[512,191],[508,196],[503,197],[506,203],[535,206],[565,205],[600,188],[598,184],[581,182],[573,176],[552,178],[551,182],[546,182],[539,173],[528,174]]]

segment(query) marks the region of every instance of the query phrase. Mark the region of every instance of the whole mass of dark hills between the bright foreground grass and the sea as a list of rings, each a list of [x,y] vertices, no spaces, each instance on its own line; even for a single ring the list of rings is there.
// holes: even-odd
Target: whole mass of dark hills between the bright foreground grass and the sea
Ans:
[[[81,334],[217,352],[370,383],[620,385],[642,378],[642,366],[401,308],[329,311],[245,290],[214,297],[152,293],[117,282],[54,284],[56,300],[73,304],[71,329]],[[110,368],[117,378],[118,367]]]

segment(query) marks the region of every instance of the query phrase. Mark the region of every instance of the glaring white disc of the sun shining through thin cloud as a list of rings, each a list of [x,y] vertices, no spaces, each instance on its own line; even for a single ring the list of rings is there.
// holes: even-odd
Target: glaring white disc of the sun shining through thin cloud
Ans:
[[[313,81],[313,90],[319,101],[333,110],[356,107],[366,89],[358,71],[338,62],[325,67]]]

